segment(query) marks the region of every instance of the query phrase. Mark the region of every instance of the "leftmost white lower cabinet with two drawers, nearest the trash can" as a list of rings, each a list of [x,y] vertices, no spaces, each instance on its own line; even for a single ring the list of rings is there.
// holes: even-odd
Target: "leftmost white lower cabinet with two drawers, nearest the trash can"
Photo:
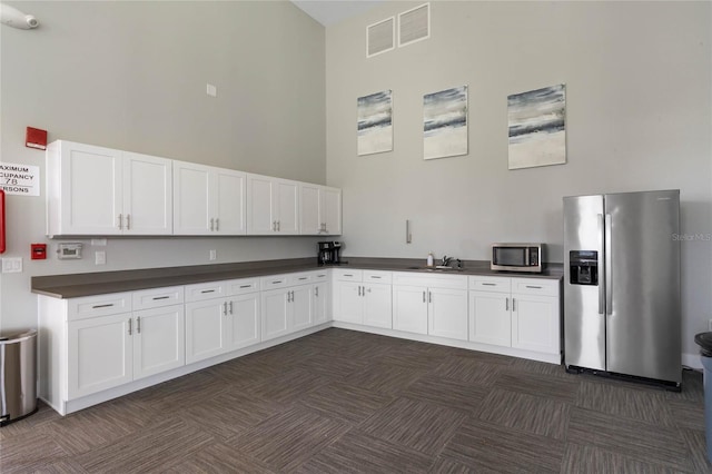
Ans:
[[[185,365],[182,302],[182,287],[69,300],[67,399]]]

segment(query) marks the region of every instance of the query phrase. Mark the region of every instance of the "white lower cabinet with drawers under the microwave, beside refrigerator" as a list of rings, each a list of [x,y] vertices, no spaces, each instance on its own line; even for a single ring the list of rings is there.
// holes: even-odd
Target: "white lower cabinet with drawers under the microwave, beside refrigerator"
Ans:
[[[472,276],[469,289],[469,340],[560,354],[558,280]]]

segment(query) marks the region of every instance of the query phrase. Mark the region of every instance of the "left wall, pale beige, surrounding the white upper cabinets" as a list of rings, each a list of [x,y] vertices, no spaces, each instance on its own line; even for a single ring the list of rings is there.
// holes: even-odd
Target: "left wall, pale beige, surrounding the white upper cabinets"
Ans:
[[[40,28],[0,27],[0,161],[40,167],[27,126],[67,139],[324,182],[325,31],[290,2],[8,1]],[[206,95],[206,83],[218,88]],[[44,192],[7,196],[0,330],[37,325],[30,278],[85,271],[308,257],[317,238],[109,239],[107,265],[59,261]],[[30,244],[48,243],[48,260]]]

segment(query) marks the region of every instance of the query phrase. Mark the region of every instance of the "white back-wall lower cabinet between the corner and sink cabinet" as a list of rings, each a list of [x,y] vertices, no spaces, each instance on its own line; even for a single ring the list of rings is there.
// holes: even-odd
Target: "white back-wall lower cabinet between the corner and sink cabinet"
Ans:
[[[334,270],[334,320],[390,329],[390,271]]]

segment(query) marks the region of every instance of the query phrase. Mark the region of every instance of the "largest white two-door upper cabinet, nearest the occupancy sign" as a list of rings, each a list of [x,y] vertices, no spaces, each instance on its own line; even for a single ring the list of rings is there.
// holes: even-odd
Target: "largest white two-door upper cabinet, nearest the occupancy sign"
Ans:
[[[170,235],[171,160],[58,140],[47,148],[47,235]]]

